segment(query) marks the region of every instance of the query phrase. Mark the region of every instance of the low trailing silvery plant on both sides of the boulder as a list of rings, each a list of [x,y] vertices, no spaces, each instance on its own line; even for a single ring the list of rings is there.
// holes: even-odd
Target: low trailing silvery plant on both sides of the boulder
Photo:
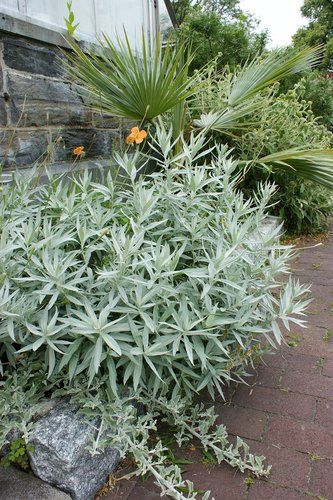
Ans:
[[[156,436],[156,422],[161,415],[163,420],[177,426],[179,446],[193,438],[199,439],[219,463],[226,461],[255,476],[269,473],[270,467],[264,467],[263,457],[252,455],[240,438],[236,444],[230,444],[225,426],[215,427],[217,417],[213,408],[193,407],[188,398],[154,398],[143,391],[136,394],[123,392],[121,397],[113,398],[105,384],[106,376],[96,378],[89,388],[84,375],[76,377],[72,383],[61,376],[54,377],[52,383],[45,382],[40,365],[28,360],[17,369],[17,373],[6,374],[6,378],[0,390],[0,450],[11,441],[13,433],[15,437],[24,436],[29,442],[41,401],[45,401],[45,394],[52,391],[55,398],[65,396],[66,404],[70,401],[85,417],[91,429],[88,450],[92,455],[103,453],[108,446],[117,448],[122,457],[132,453],[137,469],[127,477],[153,475],[162,496],[178,500],[197,498],[193,483],[182,478],[177,464],[169,462],[168,448],[158,438],[152,439],[152,435]],[[149,411],[138,412],[142,405]],[[202,498],[210,498],[210,492],[207,491]]]

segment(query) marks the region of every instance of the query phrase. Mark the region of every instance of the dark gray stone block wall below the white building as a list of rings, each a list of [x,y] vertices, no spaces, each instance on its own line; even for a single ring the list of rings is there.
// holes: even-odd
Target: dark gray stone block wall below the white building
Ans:
[[[0,31],[0,164],[25,167],[47,158],[108,158],[122,136],[119,119],[82,105],[55,45]]]

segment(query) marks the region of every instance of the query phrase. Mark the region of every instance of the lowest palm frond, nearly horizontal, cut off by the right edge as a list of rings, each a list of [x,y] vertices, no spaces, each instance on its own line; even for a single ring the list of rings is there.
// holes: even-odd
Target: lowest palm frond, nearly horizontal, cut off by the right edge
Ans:
[[[333,189],[333,150],[331,149],[289,149],[264,156],[256,163],[263,166],[271,165],[289,172],[293,170],[295,174],[305,179]]]

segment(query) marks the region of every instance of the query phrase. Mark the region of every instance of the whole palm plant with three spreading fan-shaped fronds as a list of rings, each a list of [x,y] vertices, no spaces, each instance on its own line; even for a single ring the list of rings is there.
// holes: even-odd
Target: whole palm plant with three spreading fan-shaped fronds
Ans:
[[[168,119],[173,129],[175,149],[186,130],[186,103],[191,96],[204,91],[200,75],[189,75],[191,55],[184,57],[186,46],[167,44],[157,39],[151,46],[142,35],[141,51],[135,52],[125,33],[125,40],[116,43],[104,36],[97,52],[85,53],[71,38],[72,54],[68,55],[68,70],[85,92],[89,107],[104,113],[138,120],[141,124]],[[264,57],[247,62],[235,73],[223,109],[212,109],[193,119],[189,128],[203,133],[232,134],[251,126],[257,98],[262,91],[282,78],[317,65],[322,47],[302,50],[276,50]],[[171,116],[171,120],[170,120]],[[247,162],[289,169],[295,174],[333,188],[333,151],[305,148],[276,152]]]

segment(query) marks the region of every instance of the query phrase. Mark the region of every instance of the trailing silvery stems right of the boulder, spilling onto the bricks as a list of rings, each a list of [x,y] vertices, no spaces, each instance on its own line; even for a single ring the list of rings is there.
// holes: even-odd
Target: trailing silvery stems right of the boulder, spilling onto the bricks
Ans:
[[[154,398],[144,391],[110,400],[103,380],[99,379],[87,390],[82,390],[84,385],[84,381],[76,379],[71,387],[61,388],[55,394],[70,395],[71,401],[81,408],[80,413],[91,423],[90,452],[100,453],[110,445],[123,457],[132,453],[137,470],[130,475],[152,474],[161,488],[161,496],[178,500],[197,498],[193,483],[184,480],[180,467],[168,461],[168,448],[159,439],[152,440],[152,434],[158,430],[157,419],[162,415],[163,421],[178,429],[176,439],[180,447],[199,439],[218,463],[225,461],[257,477],[269,474],[270,466],[265,468],[264,457],[252,455],[242,439],[237,438],[234,445],[229,443],[226,427],[215,426],[217,415],[213,407],[193,406],[188,398]],[[140,404],[149,409],[144,415],[137,412]],[[202,498],[210,498],[210,492]]]

